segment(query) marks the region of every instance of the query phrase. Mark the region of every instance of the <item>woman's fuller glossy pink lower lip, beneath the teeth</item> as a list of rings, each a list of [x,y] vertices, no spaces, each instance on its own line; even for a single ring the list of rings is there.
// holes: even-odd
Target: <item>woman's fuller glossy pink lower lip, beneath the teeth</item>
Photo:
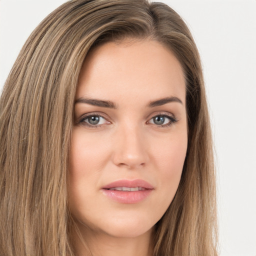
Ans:
[[[102,189],[103,194],[109,197],[112,200],[115,200],[120,203],[137,203],[144,200],[153,189],[145,189],[138,191],[119,191],[119,190],[110,190]]]

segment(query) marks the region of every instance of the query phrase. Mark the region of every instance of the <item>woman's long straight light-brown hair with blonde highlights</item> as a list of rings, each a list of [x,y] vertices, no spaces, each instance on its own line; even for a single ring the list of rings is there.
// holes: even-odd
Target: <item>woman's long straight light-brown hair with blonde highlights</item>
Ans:
[[[215,174],[200,58],[180,16],[147,0],[71,0],[32,32],[0,98],[0,255],[73,255],[68,154],[87,52],[127,38],[157,40],[186,79],[188,146],[175,197],[155,224],[154,256],[217,255]]]

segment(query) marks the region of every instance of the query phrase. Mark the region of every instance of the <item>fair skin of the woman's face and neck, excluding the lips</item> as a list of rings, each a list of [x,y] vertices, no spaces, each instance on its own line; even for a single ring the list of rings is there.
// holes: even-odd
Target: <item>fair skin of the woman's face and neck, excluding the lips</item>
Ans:
[[[176,101],[148,106],[166,97]],[[181,65],[157,41],[104,43],[83,63],[76,101],[81,98],[108,100],[116,106],[74,106],[68,193],[82,239],[93,256],[151,255],[153,226],[175,195],[186,155]],[[94,125],[88,115],[103,117]],[[155,122],[157,118],[164,123]],[[115,180],[136,178],[153,186],[140,202],[120,203],[101,190]],[[74,246],[77,255],[86,254],[76,233]]]

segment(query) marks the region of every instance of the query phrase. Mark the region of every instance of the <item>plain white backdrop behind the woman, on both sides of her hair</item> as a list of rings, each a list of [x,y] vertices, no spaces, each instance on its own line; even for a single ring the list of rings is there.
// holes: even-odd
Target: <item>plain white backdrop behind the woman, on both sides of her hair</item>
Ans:
[[[63,2],[0,0],[0,89],[28,35]],[[220,256],[256,256],[256,0],[163,2],[184,18],[202,59],[216,151]]]

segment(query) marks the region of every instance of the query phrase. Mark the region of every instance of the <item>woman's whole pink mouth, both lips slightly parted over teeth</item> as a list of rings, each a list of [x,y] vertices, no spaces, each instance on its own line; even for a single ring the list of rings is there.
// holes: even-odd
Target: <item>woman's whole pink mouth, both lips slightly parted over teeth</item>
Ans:
[[[138,203],[153,191],[153,186],[142,179],[116,180],[102,187],[101,191],[109,199],[119,203]]]

